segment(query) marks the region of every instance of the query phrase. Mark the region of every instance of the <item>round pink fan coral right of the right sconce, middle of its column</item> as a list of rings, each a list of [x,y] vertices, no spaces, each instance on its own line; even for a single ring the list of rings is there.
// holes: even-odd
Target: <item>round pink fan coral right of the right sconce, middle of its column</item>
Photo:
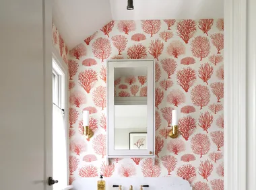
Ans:
[[[194,105],[200,106],[202,109],[210,102],[210,91],[203,85],[197,85],[191,91],[191,100]]]

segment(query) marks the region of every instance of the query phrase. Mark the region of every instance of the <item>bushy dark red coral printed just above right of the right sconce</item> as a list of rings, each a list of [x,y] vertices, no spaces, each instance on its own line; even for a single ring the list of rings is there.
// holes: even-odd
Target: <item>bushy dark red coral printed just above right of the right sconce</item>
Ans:
[[[184,89],[187,93],[189,88],[193,85],[197,77],[195,77],[195,70],[191,67],[183,68],[177,73],[177,83]]]

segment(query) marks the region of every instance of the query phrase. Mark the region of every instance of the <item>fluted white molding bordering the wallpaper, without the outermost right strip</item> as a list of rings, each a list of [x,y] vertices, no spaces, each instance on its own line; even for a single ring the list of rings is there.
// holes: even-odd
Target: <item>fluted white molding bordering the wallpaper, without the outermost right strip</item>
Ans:
[[[224,3],[224,189],[247,189],[247,1]]]

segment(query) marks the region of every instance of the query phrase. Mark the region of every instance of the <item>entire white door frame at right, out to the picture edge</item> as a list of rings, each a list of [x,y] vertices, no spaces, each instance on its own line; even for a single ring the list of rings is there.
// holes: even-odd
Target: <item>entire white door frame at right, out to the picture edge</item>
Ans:
[[[255,189],[255,0],[224,1],[224,189]],[[254,162],[253,162],[254,160]]]

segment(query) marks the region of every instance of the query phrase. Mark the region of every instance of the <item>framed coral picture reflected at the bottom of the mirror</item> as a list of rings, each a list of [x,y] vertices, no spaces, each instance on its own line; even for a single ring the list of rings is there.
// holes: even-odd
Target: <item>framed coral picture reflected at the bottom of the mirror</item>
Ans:
[[[129,134],[130,150],[146,150],[147,149],[147,133],[135,132]]]

